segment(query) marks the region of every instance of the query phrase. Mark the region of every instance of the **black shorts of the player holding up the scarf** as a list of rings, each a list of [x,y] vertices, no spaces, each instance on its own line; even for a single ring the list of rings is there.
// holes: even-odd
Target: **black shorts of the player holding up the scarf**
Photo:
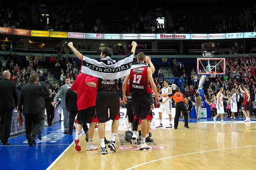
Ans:
[[[95,112],[98,122],[105,123],[106,121],[120,119],[118,91],[98,91],[96,98]],[[108,113],[109,109],[109,113]]]

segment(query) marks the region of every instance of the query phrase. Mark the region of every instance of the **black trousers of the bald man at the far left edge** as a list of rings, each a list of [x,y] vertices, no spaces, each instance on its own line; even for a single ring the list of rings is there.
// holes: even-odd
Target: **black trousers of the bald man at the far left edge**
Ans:
[[[5,111],[0,110],[0,139],[2,143],[7,143],[10,136],[11,124],[12,124],[13,110]]]

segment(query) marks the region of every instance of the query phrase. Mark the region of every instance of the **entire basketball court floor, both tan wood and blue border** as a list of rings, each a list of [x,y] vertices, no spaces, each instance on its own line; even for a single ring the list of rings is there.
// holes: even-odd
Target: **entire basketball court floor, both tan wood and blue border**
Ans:
[[[173,119],[174,120],[174,119]],[[116,152],[108,149],[101,155],[100,149],[86,151],[85,134],[80,137],[82,150],[74,149],[73,135],[64,135],[63,122],[43,128],[43,139],[28,147],[26,136],[9,140],[10,146],[0,146],[0,169],[37,170],[129,170],[129,169],[255,169],[256,119],[244,122],[213,122],[213,119],[189,119],[190,129],[184,128],[180,119],[178,129],[165,128],[168,119],[163,119],[163,128],[155,128],[159,119],[151,122],[154,142],[148,143],[151,150],[133,149],[124,139],[128,123],[120,120],[116,137]],[[111,137],[111,122],[106,123],[106,137]],[[95,130],[93,144],[100,147]]]

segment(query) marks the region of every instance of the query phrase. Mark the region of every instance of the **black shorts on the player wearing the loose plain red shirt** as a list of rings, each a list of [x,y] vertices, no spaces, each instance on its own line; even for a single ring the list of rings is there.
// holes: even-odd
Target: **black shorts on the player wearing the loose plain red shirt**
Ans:
[[[78,110],[77,123],[92,123],[95,117],[95,106],[88,107],[87,109]]]

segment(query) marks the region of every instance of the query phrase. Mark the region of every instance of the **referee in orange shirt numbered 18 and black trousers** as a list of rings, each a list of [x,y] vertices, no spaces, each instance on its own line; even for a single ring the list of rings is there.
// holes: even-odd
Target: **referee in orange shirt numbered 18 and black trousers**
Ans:
[[[176,112],[175,112],[175,117],[174,117],[174,129],[178,129],[178,124],[179,124],[179,118],[180,118],[180,112],[184,114],[184,119],[185,119],[185,128],[190,128],[188,126],[188,114],[187,114],[187,109],[184,105],[184,100],[185,96],[183,93],[180,93],[180,88],[176,87],[175,89],[176,93],[168,94],[169,98],[173,98],[173,100],[176,103]],[[162,95],[164,97],[167,97],[167,95]],[[163,104],[168,100],[168,98],[162,102]]]

